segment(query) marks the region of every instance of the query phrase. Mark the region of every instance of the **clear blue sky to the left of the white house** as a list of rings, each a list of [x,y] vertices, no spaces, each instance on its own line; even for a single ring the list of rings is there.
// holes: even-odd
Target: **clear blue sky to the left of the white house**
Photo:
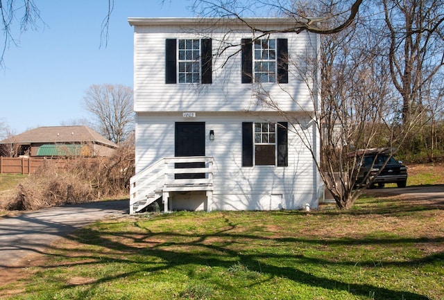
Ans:
[[[0,121],[19,134],[91,118],[85,90],[105,83],[133,87],[133,28],[128,17],[192,17],[185,0],[114,0],[108,46],[100,46],[108,0],[36,0],[46,27],[10,45],[0,69]],[[3,36],[2,36],[3,39]]]

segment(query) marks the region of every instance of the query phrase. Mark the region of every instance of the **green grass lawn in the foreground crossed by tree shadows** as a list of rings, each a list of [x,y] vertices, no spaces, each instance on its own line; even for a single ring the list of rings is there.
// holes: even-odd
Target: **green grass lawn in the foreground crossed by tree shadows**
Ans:
[[[56,242],[0,297],[444,299],[443,206],[396,203],[105,220]]]

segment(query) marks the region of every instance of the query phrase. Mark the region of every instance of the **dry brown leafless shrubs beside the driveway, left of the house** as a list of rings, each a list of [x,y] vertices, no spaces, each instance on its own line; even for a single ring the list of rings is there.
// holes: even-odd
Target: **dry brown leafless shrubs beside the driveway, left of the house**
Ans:
[[[35,210],[129,194],[134,148],[122,145],[112,157],[47,159],[37,173],[22,179],[10,210]]]

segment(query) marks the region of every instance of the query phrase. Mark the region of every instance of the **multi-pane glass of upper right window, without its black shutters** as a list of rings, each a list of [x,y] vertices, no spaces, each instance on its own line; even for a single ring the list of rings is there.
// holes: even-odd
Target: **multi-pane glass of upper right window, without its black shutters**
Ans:
[[[276,40],[256,39],[255,51],[255,82],[276,82]]]

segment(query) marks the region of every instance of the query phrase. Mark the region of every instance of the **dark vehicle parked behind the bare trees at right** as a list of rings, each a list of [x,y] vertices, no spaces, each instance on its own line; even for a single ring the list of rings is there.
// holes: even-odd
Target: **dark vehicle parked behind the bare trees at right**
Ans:
[[[381,188],[384,184],[397,184],[398,188],[405,188],[407,167],[401,161],[395,161],[393,157],[384,153],[366,153],[364,157],[357,157],[358,164],[360,161],[362,161],[361,166],[354,172],[354,175],[357,175],[357,184],[366,184],[368,188],[372,188],[375,184]],[[384,166],[386,161],[387,164]]]

